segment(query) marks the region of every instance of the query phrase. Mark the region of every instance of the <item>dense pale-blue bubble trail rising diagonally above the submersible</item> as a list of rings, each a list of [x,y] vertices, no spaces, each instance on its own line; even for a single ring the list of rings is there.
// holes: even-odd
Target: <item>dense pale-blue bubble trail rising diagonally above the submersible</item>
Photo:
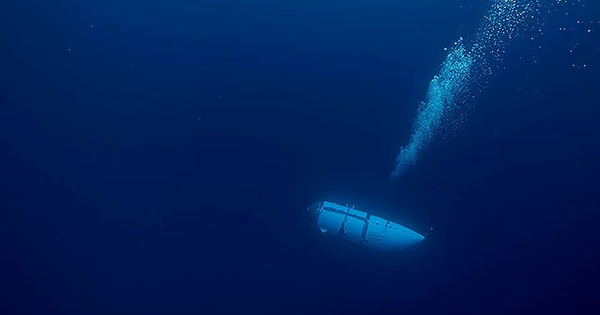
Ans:
[[[425,101],[419,106],[408,144],[400,148],[391,178],[396,179],[417,163],[421,152],[452,118],[458,106],[478,90],[492,73],[490,64],[501,61],[506,44],[517,35],[518,26],[531,15],[537,0],[492,0],[491,9],[476,31],[470,48],[461,38],[450,50],[439,73],[429,83]]]

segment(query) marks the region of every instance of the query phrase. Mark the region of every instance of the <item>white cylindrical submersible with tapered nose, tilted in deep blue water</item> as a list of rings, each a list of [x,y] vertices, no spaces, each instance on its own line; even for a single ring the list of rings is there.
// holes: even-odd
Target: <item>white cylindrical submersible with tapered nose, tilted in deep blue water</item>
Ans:
[[[388,219],[357,210],[354,206],[329,201],[307,208],[313,224],[323,234],[360,244],[364,247],[398,250],[416,245],[425,236]]]

